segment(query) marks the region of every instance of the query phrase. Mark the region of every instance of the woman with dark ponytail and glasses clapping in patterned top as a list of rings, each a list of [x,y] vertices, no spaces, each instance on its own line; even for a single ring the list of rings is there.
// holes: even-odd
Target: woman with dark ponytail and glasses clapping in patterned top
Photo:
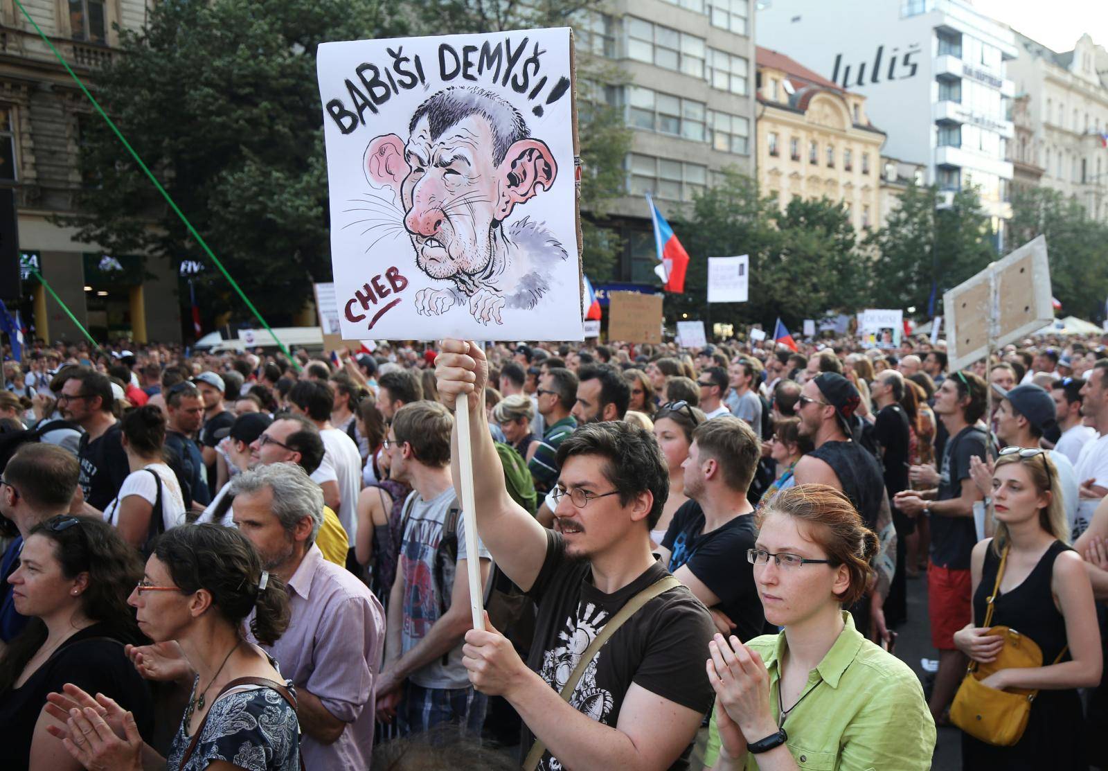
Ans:
[[[103,695],[66,685],[48,711],[65,722],[51,733],[86,769],[299,771],[299,723],[291,681],[246,640],[244,623],[271,646],[289,620],[288,595],[246,536],[222,525],[182,525],[161,536],[127,603],[156,644],[129,647],[151,679],[193,675],[192,692],[167,759],[146,744],[135,716]],[[161,656],[150,656],[151,648]],[[184,658],[174,658],[179,648]],[[155,667],[179,671],[153,671]]]

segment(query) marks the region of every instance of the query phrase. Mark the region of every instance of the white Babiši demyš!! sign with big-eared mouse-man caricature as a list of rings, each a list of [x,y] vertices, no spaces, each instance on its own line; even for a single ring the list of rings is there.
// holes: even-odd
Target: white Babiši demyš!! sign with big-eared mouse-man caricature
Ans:
[[[581,340],[568,28],[322,43],[345,339]]]

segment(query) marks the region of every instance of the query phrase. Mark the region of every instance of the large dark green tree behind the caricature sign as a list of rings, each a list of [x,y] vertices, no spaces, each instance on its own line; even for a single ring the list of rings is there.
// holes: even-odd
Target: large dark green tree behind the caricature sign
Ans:
[[[96,73],[105,111],[270,322],[287,322],[330,280],[327,169],[316,49],[329,40],[566,25],[596,2],[542,0],[178,0],[120,33]],[[578,61],[587,75],[588,62]],[[604,105],[582,110],[583,204],[603,212],[623,182],[629,133]],[[96,115],[81,123],[79,238],[116,254],[197,260],[206,318],[248,312],[199,245]],[[572,181],[573,169],[565,169]],[[618,244],[585,222],[592,268]],[[589,269],[586,263],[586,269]]]

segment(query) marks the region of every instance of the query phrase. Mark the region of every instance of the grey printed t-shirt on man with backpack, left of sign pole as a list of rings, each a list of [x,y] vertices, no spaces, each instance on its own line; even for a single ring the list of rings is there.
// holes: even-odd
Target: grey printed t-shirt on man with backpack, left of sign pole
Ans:
[[[412,491],[404,501],[403,539],[397,568],[397,580],[403,582],[400,641],[404,654],[427,637],[450,605],[456,563],[448,558],[440,545],[452,508],[458,512],[458,559],[466,559],[465,522],[453,487],[430,501],[423,501]],[[490,558],[480,539],[478,546],[480,556]],[[464,574],[456,578],[466,579]],[[422,688],[468,688],[470,678],[462,666],[462,642],[447,655],[445,664],[442,657],[437,658],[412,672],[411,681]]]

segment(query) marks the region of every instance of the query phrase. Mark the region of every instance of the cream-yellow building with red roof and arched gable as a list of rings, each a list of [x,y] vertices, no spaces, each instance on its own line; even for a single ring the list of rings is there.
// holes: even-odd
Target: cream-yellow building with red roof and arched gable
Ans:
[[[793,198],[842,202],[860,233],[881,217],[881,145],[865,97],[783,53],[758,47],[758,189],[783,212]]]

